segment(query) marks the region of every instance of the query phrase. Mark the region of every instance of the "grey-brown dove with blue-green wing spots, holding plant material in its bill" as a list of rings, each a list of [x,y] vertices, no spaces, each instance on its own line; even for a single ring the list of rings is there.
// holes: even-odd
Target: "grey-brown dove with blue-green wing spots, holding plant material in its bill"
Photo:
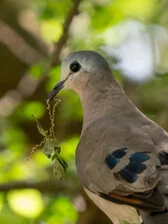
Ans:
[[[168,223],[168,133],[126,96],[99,53],[70,53],[60,73],[48,100],[62,89],[80,97],[76,167],[86,194],[114,224]]]

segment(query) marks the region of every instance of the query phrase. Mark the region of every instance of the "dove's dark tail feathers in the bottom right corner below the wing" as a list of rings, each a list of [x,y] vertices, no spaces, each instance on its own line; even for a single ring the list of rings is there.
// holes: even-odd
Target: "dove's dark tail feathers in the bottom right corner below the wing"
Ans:
[[[154,213],[154,214],[141,214],[143,224],[168,224],[168,211]]]

